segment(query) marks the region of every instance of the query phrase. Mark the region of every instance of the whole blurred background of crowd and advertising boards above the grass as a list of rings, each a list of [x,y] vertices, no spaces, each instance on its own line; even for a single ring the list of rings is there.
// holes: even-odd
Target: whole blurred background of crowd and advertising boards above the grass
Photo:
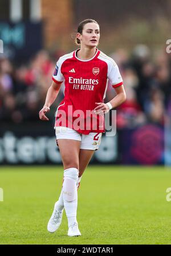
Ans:
[[[78,24],[92,18],[127,93],[117,134],[103,136],[92,164],[171,165],[170,13],[169,0],[0,0],[0,164],[62,163],[54,116],[64,85],[50,121],[38,113],[56,61],[77,48]],[[114,96],[108,84],[105,102]]]

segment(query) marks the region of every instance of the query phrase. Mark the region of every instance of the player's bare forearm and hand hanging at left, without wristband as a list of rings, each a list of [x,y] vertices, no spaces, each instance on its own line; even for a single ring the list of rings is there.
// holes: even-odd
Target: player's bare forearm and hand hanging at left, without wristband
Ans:
[[[48,88],[46,101],[44,103],[43,108],[39,111],[39,118],[43,121],[48,121],[47,116],[45,115],[47,112],[50,111],[50,106],[54,103],[56,97],[59,94],[61,83],[52,82],[50,88]]]

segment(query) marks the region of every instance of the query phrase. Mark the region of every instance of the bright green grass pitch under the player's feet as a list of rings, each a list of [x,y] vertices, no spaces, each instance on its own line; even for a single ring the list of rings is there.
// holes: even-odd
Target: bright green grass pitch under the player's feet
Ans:
[[[67,236],[67,218],[56,233],[47,222],[63,178],[62,166],[0,166],[0,244],[170,244],[170,169],[89,166],[78,192],[82,237]]]

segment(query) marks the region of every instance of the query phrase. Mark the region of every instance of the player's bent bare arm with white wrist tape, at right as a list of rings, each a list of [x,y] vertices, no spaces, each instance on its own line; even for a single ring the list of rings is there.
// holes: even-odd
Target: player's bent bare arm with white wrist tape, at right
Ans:
[[[97,107],[94,109],[96,114],[103,115],[109,112],[110,109],[116,108],[121,105],[126,100],[126,94],[123,84],[121,86],[115,87],[116,96],[113,97],[108,103],[96,102]]]

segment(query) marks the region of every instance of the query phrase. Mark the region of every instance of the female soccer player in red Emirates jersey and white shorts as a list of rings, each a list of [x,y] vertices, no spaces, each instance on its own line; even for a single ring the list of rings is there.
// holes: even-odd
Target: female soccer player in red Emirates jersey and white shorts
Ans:
[[[119,68],[96,47],[99,43],[99,25],[93,19],[80,22],[76,43],[78,50],[59,58],[51,87],[47,91],[41,120],[48,120],[46,112],[58,96],[64,82],[64,99],[56,111],[55,133],[64,167],[62,192],[55,203],[47,230],[55,232],[61,224],[63,209],[68,219],[68,236],[81,235],[76,211],[78,186],[95,150],[99,148],[104,129],[104,113],[116,108],[126,99]],[[116,96],[103,103],[107,80],[115,88]]]

